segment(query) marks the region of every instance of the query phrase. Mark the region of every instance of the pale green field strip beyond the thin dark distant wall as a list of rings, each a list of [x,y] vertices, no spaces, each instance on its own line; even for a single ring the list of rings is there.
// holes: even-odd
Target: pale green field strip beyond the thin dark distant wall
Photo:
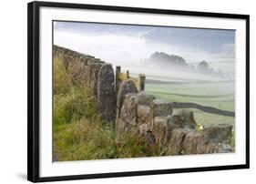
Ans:
[[[234,84],[146,84],[146,91],[169,101],[191,102],[202,106],[234,111]]]

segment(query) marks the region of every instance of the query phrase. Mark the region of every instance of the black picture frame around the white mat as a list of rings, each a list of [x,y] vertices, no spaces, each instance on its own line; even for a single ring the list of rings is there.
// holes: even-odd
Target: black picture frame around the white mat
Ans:
[[[218,167],[140,170],[118,173],[102,173],[87,175],[72,175],[59,177],[39,176],[39,8],[73,8],[90,10],[110,10],[118,12],[149,13],[162,15],[191,15],[204,17],[218,17],[244,19],[246,21],[246,163]],[[138,8],[110,5],[81,5],[53,2],[32,2],[27,5],[27,179],[33,182],[56,181],[69,179],[97,179],[111,177],[128,177],[140,175],[170,174],[182,172],[197,172],[224,169],[250,168],[250,15],[219,14],[208,12],[178,11],[167,9]]]

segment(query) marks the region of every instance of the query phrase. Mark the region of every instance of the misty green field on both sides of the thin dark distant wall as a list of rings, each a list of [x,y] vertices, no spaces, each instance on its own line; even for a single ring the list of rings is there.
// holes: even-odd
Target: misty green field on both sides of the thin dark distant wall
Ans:
[[[146,91],[171,102],[190,102],[229,111],[235,109],[235,86],[232,82],[169,84],[146,82]],[[174,109],[174,113],[179,110],[179,108]],[[235,125],[235,118],[210,114],[194,108],[191,110],[199,125],[209,126],[214,123]]]

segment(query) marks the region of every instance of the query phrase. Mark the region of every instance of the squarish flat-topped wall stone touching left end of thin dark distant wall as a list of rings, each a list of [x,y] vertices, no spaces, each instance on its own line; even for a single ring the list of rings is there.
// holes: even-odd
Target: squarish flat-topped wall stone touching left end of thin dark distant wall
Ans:
[[[172,105],[161,99],[154,99],[150,103],[150,118],[170,116],[172,114]]]

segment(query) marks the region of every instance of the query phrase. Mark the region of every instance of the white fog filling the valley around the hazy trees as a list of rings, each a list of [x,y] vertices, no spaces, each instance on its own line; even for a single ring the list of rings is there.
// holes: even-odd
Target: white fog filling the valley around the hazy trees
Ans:
[[[230,41],[220,43],[212,39],[212,43],[205,43],[203,40],[205,38],[200,38],[198,34],[195,38],[184,36],[187,37],[185,39],[180,36],[179,39],[176,38],[173,42],[171,40],[167,42],[163,39],[165,38],[165,33],[166,37],[169,37],[171,34],[179,33],[180,31],[174,28],[170,31],[167,28],[158,30],[152,27],[140,28],[138,26],[135,28],[132,26],[120,26],[118,28],[119,26],[101,24],[86,24],[85,26],[83,23],[72,23],[70,25],[62,22],[61,25],[55,24],[54,44],[96,56],[107,63],[111,63],[114,67],[121,66],[123,70],[129,70],[130,74],[134,76],[137,76],[138,73],[143,73],[148,79],[190,82],[227,80],[227,77],[213,77],[182,69],[177,70],[172,67],[147,65],[145,60],[156,51],[182,56],[189,65],[195,67],[200,61],[205,60],[212,69],[216,71],[221,69],[224,74],[230,75],[230,78],[234,77],[235,46]],[[189,28],[186,30],[189,30]],[[158,35],[156,35],[158,33],[161,33],[159,39],[157,39]],[[187,35],[189,33],[188,31],[186,32]],[[221,37],[221,33],[218,34]],[[207,36],[205,33],[204,35]],[[193,39],[198,40],[194,41]],[[215,42],[218,46],[214,46]]]

